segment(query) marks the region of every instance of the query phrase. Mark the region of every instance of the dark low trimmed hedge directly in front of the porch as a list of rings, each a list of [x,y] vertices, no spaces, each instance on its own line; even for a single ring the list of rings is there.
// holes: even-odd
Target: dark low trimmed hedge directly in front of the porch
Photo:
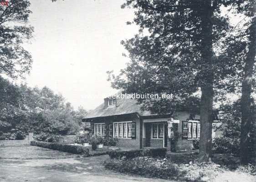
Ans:
[[[131,159],[134,157],[165,157],[167,149],[166,148],[152,148],[152,149],[138,149],[130,151],[111,151],[108,152],[110,158],[126,158]]]

